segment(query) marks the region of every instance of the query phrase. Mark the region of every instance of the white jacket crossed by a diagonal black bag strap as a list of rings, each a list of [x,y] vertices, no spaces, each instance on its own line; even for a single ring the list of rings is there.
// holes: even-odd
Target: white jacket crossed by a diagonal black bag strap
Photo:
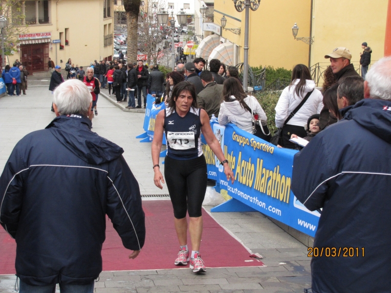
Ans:
[[[313,114],[319,114],[323,108],[323,96],[319,90],[315,89],[315,82],[312,80],[307,80],[304,87],[303,96],[299,97],[295,92],[296,84],[298,83],[299,80],[295,80],[290,88],[287,86],[282,91],[280,99],[278,100],[275,108],[276,126],[278,128],[284,125],[284,122],[286,118],[288,118],[289,114],[302,102],[305,95],[311,90],[314,90],[311,96],[287,124],[305,126],[307,124],[308,118]]]

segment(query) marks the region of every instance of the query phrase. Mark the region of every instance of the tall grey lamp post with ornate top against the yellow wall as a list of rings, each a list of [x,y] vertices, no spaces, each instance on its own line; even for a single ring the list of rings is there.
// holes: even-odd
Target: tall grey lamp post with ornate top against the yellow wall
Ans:
[[[245,11],[244,21],[244,60],[243,60],[243,89],[247,91],[247,80],[248,80],[248,30],[249,30],[249,18],[250,9],[256,11],[260,7],[261,0],[233,0],[235,9],[238,12]]]

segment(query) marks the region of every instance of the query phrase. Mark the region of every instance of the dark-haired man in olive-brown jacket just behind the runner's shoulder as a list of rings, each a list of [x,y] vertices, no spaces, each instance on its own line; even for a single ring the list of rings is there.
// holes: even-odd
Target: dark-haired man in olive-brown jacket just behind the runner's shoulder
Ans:
[[[197,106],[208,113],[209,119],[212,117],[212,114],[215,114],[217,117],[218,112],[220,112],[223,86],[213,81],[212,72],[208,70],[203,70],[199,78],[204,89],[197,95]]]

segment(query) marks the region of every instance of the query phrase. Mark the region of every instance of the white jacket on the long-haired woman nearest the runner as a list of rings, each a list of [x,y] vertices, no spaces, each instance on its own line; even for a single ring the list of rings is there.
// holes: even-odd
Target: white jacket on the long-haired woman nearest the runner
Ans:
[[[235,99],[234,96],[231,96],[232,99]],[[253,110],[253,114],[258,114],[259,119],[264,121],[267,120],[266,114],[263,111],[258,100],[253,96],[247,96],[244,98],[244,102]],[[225,125],[228,122],[231,122],[238,126],[240,129],[243,129],[249,133],[253,133],[253,120],[251,112],[246,111],[239,104],[239,101],[235,100],[233,102],[222,102],[220,105],[220,112],[218,113],[218,124]]]

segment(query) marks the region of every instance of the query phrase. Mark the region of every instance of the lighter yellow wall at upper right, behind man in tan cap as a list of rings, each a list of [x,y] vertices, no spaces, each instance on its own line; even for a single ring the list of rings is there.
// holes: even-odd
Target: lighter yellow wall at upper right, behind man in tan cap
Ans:
[[[325,55],[336,47],[346,47],[357,67],[363,42],[372,49],[372,64],[382,58],[387,7],[388,0],[314,0],[311,63],[329,63]]]

